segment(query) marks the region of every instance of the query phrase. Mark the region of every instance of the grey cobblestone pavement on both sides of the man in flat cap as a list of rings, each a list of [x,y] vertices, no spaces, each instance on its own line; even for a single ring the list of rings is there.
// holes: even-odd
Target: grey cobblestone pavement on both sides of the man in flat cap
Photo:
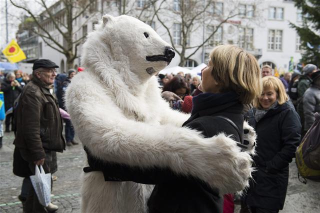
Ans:
[[[23,178],[12,173],[13,139],[12,132],[5,132],[0,149],[0,212],[22,212],[17,196]],[[80,144],[66,146],[63,153],[57,153],[58,170],[53,174],[57,180],[53,181],[51,192],[52,203],[59,206],[57,213],[80,212],[80,175],[84,156]]]

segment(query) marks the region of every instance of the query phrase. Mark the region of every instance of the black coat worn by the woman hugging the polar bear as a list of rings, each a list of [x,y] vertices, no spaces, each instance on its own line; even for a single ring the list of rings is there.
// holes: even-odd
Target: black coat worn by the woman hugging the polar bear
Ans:
[[[219,132],[234,135],[236,141],[241,141],[236,129],[222,118],[223,115],[231,119],[243,132],[242,104],[228,102],[215,107],[199,110],[183,123],[203,132],[205,137],[212,137]],[[148,200],[149,212],[222,212],[223,197],[217,189],[191,176],[179,176],[169,169],[149,168],[140,169],[127,165],[101,162],[88,153],[90,167],[83,170],[101,170],[105,181],[134,181],[143,184],[155,184]]]

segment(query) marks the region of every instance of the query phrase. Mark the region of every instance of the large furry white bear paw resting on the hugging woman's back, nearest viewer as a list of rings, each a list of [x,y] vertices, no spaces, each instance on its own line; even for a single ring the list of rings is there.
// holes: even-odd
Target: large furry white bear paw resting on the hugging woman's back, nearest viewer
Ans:
[[[221,194],[241,191],[248,187],[253,171],[249,152],[241,151],[236,141],[220,133],[207,138],[209,145],[202,152],[201,166],[196,176]]]

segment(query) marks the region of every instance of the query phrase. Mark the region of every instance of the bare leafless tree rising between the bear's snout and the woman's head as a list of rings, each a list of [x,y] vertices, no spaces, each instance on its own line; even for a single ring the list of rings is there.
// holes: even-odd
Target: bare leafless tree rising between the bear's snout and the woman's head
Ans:
[[[245,11],[240,11],[238,5],[238,1],[216,0],[163,0],[152,2],[154,15],[165,28],[172,47],[180,56],[179,66],[184,66],[187,59],[201,47],[208,45],[208,41],[217,34],[220,26],[225,23],[232,24],[231,18],[233,17],[245,18],[246,14],[253,14],[256,9],[256,6],[253,5]],[[203,27],[210,25],[214,27],[209,33],[204,33]],[[190,42],[189,36],[191,33],[198,33],[199,36],[203,34],[203,37],[194,39],[198,43],[194,43],[194,40]],[[219,43],[214,43],[214,45],[217,44]]]

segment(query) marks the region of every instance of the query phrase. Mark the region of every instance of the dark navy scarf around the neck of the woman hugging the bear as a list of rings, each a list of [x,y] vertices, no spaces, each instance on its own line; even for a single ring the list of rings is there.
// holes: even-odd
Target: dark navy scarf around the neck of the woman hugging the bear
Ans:
[[[234,91],[229,91],[225,93],[205,92],[198,94],[192,98],[191,114],[223,104],[236,104],[238,103],[238,98],[239,96]]]

